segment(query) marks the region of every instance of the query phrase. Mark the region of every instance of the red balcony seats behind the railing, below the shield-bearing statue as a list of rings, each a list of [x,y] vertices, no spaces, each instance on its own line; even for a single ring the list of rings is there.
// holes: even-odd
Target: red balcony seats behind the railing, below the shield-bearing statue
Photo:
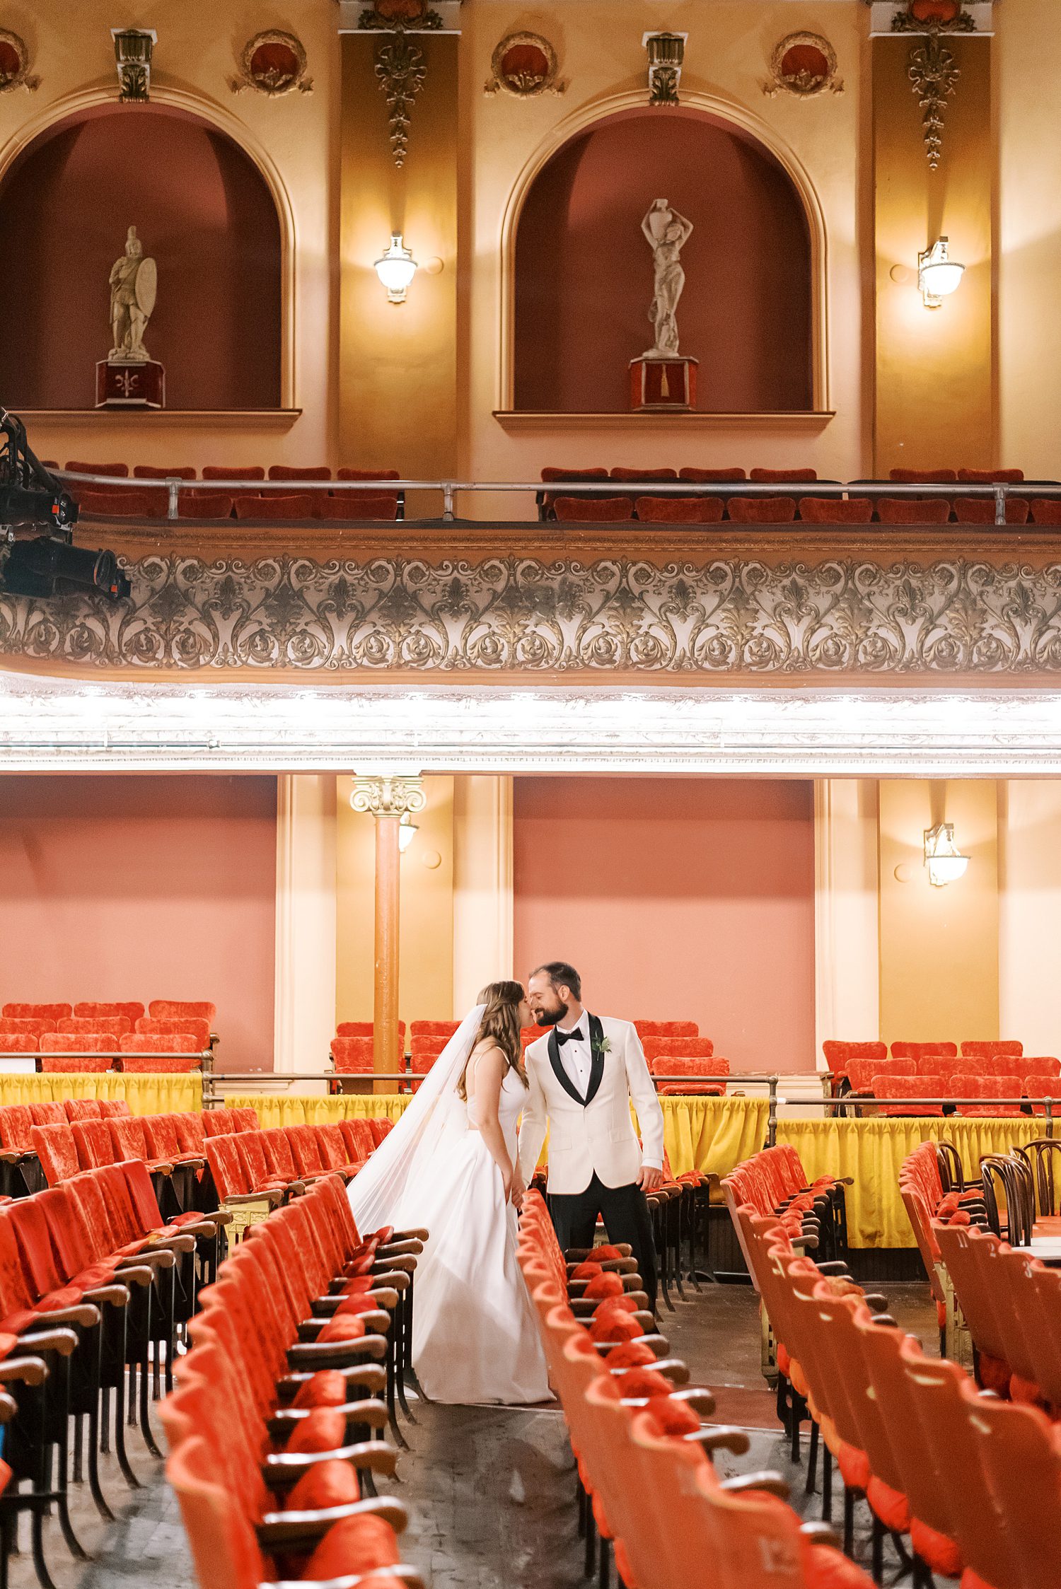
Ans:
[[[46,467],[59,469],[59,464],[48,462]],[[111,480],[127,480],[129,464],[92,464],[70,459],[67,472],[71,475],[100,475]],[[195,480],[195,470],[189,466],[159,467],[137,464],[133,469],[137,480]],[[240,480],[248,481],[245,491],[238,494],[232,489],[181,489],[178,493],[179,518],[386,518],[405,516],[405,493],[399,491],[254,491],[253,481],[265,480],[265,469],[259,464],[208,466],[202,472],[205,481]],[[321,467],[292,467],[289,464],[273,464],[268,470],[270,480],[330,480],[332,470]],[[397,469],[340,469],[337,481],[354,480],[400,480]],[[167,486],[145,486],[143,489],[113,489],[86,486],[81,481],[70,483],[70,493],[86,513],[102,518],[165,518],[170,507]]]

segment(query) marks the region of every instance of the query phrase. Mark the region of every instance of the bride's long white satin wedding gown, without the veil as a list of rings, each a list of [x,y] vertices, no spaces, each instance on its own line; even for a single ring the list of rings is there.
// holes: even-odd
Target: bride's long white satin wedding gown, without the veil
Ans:
[[[499,1119],[513,1165],[526,1096],[507,1071]],[[476,1128],[473,1098],[464,1133],[449,1136],[435,1171],[416,1195],[416,1225],[430,1231],[413,1308],[413,1368],[424,1395],[462,1405],[548,1401],[534,1305],[516,1263],[516,1211]]]

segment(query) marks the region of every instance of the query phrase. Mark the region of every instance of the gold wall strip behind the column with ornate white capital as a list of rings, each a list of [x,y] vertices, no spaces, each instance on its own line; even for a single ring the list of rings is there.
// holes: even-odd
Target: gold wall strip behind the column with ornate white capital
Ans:
[[[335,810],[335,1019],[372,1020],[375,818],[351,810],[338,779]],[[449,1020],[453,1009],[453,779],[424,779],[426,809],[402,856],[399,1015]],[[426,866],[437,856],[437,866]]]

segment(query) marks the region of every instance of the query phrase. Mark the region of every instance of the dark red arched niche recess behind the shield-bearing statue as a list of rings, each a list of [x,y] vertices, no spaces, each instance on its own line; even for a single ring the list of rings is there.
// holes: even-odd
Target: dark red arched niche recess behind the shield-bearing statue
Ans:
[[[199,116],[114,103],[48,127],[0,184],[0,400],[94,405],[129,226],[159,265],[145,342],[167,407],[280,407],[281,232],[265,178]]]

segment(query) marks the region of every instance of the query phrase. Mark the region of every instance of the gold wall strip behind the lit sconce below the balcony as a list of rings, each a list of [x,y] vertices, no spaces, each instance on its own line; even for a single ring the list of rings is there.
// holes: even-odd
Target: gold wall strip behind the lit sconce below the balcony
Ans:
[[[932,888],[924,829],[953,822],[966,876]],[[909,882],[896,866],[912,866]],[[883,779],[880,783],[880,1036],[999,1036],[997,785]],[[1007,1036],[1020,1036],[1018,1031]]]

